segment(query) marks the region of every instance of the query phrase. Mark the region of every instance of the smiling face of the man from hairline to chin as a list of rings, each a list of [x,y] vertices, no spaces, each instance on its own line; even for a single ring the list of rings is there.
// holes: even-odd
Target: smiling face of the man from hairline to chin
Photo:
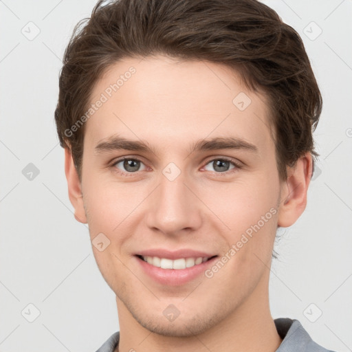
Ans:
[[[289,192],[265,96],[222,65],[157,56],[110,67],[91,104],[99,99],[81,183],[73,167],[67,175],[119,313],[189,336],[242,314],[251,297],[263,303]]]

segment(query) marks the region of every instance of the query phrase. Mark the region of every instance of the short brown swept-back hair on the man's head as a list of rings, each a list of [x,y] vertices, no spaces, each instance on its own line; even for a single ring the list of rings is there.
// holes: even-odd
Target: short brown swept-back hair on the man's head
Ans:
[[[85,126],[67,131],[87,111],[96,81],[122,58],[157,54],[226,65],[265,92],[281,180],[304,153],[318,157],[321,94],[302,39],[274,10],[256,0],[100,0],[76,25],[59,78],[58,137],[78,175]]]

